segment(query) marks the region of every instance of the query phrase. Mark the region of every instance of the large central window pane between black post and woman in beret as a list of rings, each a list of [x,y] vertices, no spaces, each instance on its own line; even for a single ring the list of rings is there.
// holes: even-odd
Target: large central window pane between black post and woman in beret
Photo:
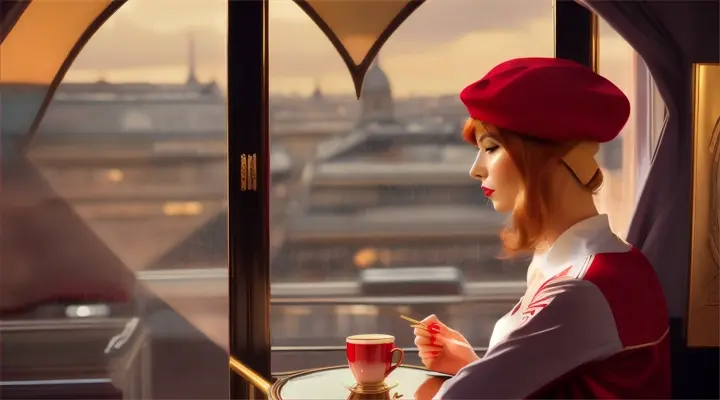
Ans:
[[[496,258],[505,217],[468,177],[458,94],[501,61],[552,56],[551,4],[427,2],[387,42],[360,101],[295,4],[271,2],[270,18],[273,371],[344,363],[350,334],[412,346],[399,314],[435,313],[487,346],[527,264]]]

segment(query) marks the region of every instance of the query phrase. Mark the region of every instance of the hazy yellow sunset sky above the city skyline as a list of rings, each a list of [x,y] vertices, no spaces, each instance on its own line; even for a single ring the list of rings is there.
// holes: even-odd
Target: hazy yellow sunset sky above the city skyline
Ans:
[[[339,0],[340,1],[340,0]],[[198,73],[225,82],[225,0],[130,0],[80,54],[68,81],[181,82],[194,32]],[[270,90],[352,93],[340,56],[291,0],[270,7]],[[601,73],[628,90],[632,49],[601,29]],[[495,64],[552,56],[550,0],[429,0],[390,38],[381,65],[399,96],[454,94]]]

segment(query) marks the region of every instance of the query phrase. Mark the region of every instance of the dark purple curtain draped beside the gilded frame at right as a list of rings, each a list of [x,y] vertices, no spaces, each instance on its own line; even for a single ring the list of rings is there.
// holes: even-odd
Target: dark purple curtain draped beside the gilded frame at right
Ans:
[[[628,233],[655,266],[672,317],[684,317],[690,260],[692,64],[718,62],[716,1],[585,0],[645,60],[669,119]]]

